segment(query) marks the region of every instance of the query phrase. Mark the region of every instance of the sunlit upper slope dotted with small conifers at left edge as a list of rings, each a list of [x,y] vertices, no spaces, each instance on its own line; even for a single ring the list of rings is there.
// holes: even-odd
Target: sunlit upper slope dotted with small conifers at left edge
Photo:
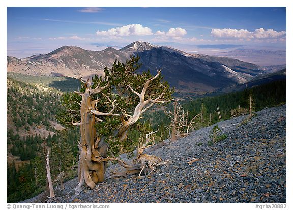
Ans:
[[[23,136],[24,134],[41,134],[45,126],[47,132],[54,132],[52,122],[56,122],[55,115],[61,108],[58,100],[60,96],[61,92],[54,88],[41,84],[28,85],[8,78],[8,130]]]

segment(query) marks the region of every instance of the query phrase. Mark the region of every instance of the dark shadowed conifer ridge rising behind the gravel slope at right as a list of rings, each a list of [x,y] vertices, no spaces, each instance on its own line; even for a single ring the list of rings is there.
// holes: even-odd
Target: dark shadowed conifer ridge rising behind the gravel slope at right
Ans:
[[[231,117],[232,109],[236,109],[239,106],[243,108],[249,107],[249,94],[251,94],[254,101],[254,111],[286,103],[286,80],[271,82],[241,92],[197,98],[185,103],[184,107],[191,113],[196,114],[201,111],[201,105],[203,104],[207,113],[212,114],[212,123],[215,123],[218,120],[218,114],[215,114],[217,104],[222,118],[228,119]]]

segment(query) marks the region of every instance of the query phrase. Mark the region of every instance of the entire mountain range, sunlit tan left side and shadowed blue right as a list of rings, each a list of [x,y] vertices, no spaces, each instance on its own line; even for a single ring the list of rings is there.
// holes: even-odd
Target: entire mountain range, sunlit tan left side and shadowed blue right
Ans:
[[[246,83],[265,73],[262,67],[227,57],[189,54],[174,48],[136,41],[120,50],[108,47],[102,51],[63,46],[48,54],[24,59],[7,57],[7,71],[27,75],[88,77],[102,75],[105,66],[115,59],[125,62],[130,55],[139,55],[142,67],[155,74],[163,69],[164,79],[178,92],[204,94],[224,87]]]

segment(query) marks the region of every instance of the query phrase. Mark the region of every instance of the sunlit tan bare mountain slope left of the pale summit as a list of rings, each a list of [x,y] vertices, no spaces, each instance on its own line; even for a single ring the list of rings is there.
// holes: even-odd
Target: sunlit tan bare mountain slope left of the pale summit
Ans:
[[[80,47],[63,46],[45,55],[24,59],[7,57],[7,71],[28,75],[63,75],[83,77],[102,74],[105,66],[115,59],[124,62],[126,57],[114,48],[102,51],[84,50]]]

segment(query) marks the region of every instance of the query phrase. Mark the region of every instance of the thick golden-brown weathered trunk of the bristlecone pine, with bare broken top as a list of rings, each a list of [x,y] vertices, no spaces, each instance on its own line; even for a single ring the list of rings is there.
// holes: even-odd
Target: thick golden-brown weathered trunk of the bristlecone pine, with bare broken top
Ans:
[[[82,81],[82,80],[81,80]],[[100,93],[108,85],[100,87],[97,85],[95,89],[92,89],[89,80],[82,81],[85,86],[85,92],[75,92],[82,96],[80,102],[80,123],[73,123],[80,126],[80,157],[78,164],[78,185],[75,188],[75,193],[79,194],[82,190],[84,181],[91,188],[94,189],[98,182],[104,181],[105,174],[105,158],[107,157],[107,144],[101,141],[100,137],[96,136],[95,122],[101,121],[101,119],[95,117],[95,115],[107,116],[113,115],[114,102],[112,102],[113,109],[108,113],[101,113],[95,110],[95,102],[92,100],[92,95]]]

